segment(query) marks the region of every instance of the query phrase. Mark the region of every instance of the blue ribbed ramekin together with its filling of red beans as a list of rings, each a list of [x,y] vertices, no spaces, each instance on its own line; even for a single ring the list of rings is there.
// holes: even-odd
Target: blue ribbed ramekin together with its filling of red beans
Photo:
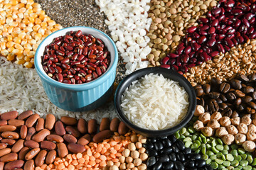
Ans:
[[[57,30],[38,46],[36,72],[50,101],[66,111],[90,111],[111,96],[118,61],[112,39],[95,28]]]

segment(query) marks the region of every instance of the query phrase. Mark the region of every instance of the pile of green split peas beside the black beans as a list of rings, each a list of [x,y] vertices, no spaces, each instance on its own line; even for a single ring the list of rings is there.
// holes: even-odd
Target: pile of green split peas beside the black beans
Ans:
[[[245,152],[245,149],[235,144],[224,145],[220,138],[206,137],[196,132],[191,125],[193,121],[188,123],[188,128],[182,128],[175,135],[183,140],[187,148],[203,154],[202,158],[213,169],[256,169],[256,158],[253,159],[251,153]]]

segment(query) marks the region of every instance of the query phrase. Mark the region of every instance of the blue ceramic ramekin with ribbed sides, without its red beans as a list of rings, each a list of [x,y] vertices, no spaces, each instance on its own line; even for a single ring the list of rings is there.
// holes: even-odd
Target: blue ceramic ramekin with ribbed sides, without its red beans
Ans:
[[[70,30],[82,30],[83,34],[92,34],[95,38],[100,38],[107,46],[107,50],[110,51],[111,62],[107,71],[99,78],[85,84],[64,84],[48,77],[44,72],[41,57],[46,45],[53,42],[54,38],[70,32]],[[55,106],[67,111],[90,111],[105,103],[112,94],[117,61],[117,47],[111,38],[100,30],[82,26],[63,28],[48,35],[38,46],[35,55],[36,72],[41,78],[46,95]]]

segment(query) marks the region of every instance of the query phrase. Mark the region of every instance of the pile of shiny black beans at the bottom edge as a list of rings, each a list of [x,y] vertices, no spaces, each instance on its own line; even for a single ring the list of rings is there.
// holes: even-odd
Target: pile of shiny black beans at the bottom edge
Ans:
[[[191,152],[191,148],[186,148],[174,135],[149,138],[145,147],[149,154],[148,169],[211,169],[200,154]]]

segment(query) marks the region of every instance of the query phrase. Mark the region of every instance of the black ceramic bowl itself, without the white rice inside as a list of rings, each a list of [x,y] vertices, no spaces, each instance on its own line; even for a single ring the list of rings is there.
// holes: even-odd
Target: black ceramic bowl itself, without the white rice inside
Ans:
[[[178,81],[180,86],[183,86],[184,89],[186,90],[186,92],[188,93],[188,101],[189,101],[188,112],[186,113],[183,120],[181,120],[180,123],[178,123],[177,125],[175,125],[172,128],[165,129],[165,130],[148,130],[145,128],[140,128],[139,126],[134,125],[132,122],[130,122],[122,111],[122,107],[120,105],[121,105],[122,94],[124,93],[125,89],[127,89],[127,87],[130,84],[132,84],[132,81],[141,79],[146,74],[150,74],[150,73],[162,74],[167,79]],[[151,67],[151,68],[146,68],[146,69],[139,69],[138,71],[133,72],[132,74],[129,74],[127,77],[125,77],[121,81],[119,86],[117,86],[117,91],[114,94],[114,107],[117,111],[119,118],[130,129],[134,130],[134,132],[137,132],[146,137],[164,137],[164,136],[173,134],[177,130],[180,130],[181,128],[183,128],[183,126],[185,126],[189,122],[189,120],[191,120],[193,113],[196,109],[196,93],[195,93],[193,87],[191,86],[191,84],[189,83],[189,81],[185,77],[183,77],[181,74],[178,74],[177,72],[174,72],[170,69],[164,69],[161,67]]]

